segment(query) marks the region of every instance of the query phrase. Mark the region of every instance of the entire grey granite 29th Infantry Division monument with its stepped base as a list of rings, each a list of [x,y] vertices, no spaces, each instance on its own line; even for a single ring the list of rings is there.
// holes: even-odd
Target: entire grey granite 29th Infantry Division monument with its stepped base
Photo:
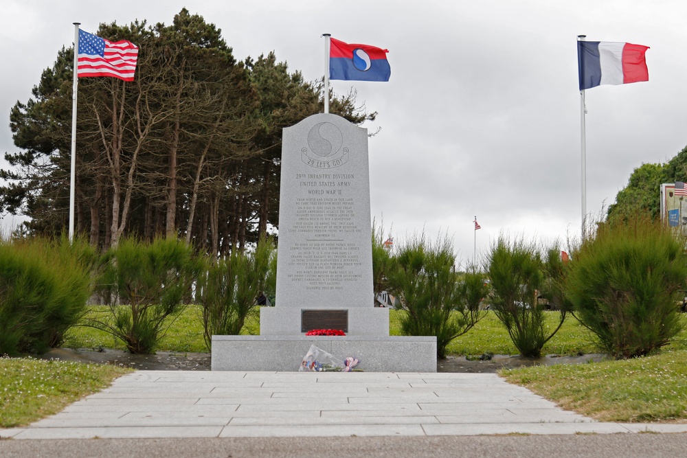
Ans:
[[[436,337],[389,336],[374,306],[367,130],[307,117],[284,129],[281,166],[275,306],[260,309],[260,336],[213,336],[212,369],[296,370],[315,343],[367,371],[436,371]]]

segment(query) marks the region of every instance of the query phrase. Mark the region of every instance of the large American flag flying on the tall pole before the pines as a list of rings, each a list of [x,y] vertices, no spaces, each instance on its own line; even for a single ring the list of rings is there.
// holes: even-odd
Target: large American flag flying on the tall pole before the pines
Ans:
[[[133,81],[138,60],[138,47],[131,41],[115,43],[79,29],[79,78],[85,76],[111,76]]]

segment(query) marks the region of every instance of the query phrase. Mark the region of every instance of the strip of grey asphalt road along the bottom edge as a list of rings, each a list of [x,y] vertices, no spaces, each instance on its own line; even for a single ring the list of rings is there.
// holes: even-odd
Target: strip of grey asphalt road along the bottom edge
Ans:
[[[0,441],[0,457],[657,458],[687,456],[687,433],[258,439]]]

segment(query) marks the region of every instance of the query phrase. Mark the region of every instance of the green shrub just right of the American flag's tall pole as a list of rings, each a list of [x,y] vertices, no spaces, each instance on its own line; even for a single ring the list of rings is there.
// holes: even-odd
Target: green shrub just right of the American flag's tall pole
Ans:
[[[168,317],[183,310],[200,262],[181,240],[147,244],[125,238],[104,254],[102,269],[98,291],[113,298],[108,307],[113,319],[95,317],[88,325],[122,339],[131,353],[150,353],[173,323]]]

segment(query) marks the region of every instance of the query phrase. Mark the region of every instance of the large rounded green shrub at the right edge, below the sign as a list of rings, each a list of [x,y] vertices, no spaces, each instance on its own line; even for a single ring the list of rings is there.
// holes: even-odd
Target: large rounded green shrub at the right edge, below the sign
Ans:
[[[684,240],[661,222],[599,225],[573,253],[566,292],[574,316],[616,358],[644,356],[682,330]]]

